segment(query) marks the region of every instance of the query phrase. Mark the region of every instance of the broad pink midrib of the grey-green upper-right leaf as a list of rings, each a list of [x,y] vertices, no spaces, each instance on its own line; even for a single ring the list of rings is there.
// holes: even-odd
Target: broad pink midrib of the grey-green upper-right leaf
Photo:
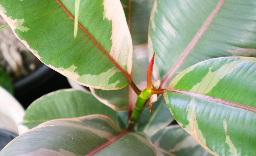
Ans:
[[[204,31],[206,30],[207,26],[210,24],[210,22],[212,21],[212,19],[214,18],[214,16],[216,15],[216,13],[219,11],[221,5],[223,4],[225,0],[221,0],[221,2],[218,4],[218,6],[215,8],[215,10],[213,11],[213,13],[211,14],[211,16],[209,17],[209,19],[206,21],[206,23],[204,24],[204,26],[202,27],[202,29],[199,31],[199,33],[196,35],[196,37],[192,40],[191,44],[188,46],[188,48],[186,49],[186,51],[184,52],[184,54],[180,57],[180,59],[178,60],[178,62],[174,65],[174,67],[172,68],[172,70],[170,70],[169,74],[166,76],[166,78],[163,80],[160,88],[165,87],[165,84],[168,82],[168,80],[170,79],[170,77],[173,76],[173,74],[176,72],[176,70],[178,69],[178,67],[180,66],[180,64],[182,63],[182,61],[186,58],[186,56],[189,54],[190,50],[195,46],[196,42],[199,40],[199,38],[202,36],[202,34],[204,33]]]

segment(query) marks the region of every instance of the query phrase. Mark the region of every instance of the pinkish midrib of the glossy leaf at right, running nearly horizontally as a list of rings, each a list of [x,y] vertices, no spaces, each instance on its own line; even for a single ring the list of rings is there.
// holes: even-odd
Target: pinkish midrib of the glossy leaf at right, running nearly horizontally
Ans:
[[[222,99],[219,99],[219,98],[214,98],[214,97],[211,97],[211,96],[206,96],[206,95],[192,93],[192,92],[187,92],[187,91],[181,91],[181,90],[177,90],[177,89],[169,89],[169,88],[166,89],[166,91],[180,93],[180,94],[185,94],[185,95],[189,95],[189,96],[193,96],[193,97],[198,97],[198,98],[205,99],[205,100],[208,100],[208,101],[221,103],[223,105],[228,105],[228,106],[231,106],[231,107],[236,107],[236,108],[241,108],[241,109],[245,109],[245,110],[256,112],[255,108],[252,108],[252,107],[249,107],[249,106],[240,105],[240,104],[229,102],[229,101],[225,101],[225,100],[222,100]]]

